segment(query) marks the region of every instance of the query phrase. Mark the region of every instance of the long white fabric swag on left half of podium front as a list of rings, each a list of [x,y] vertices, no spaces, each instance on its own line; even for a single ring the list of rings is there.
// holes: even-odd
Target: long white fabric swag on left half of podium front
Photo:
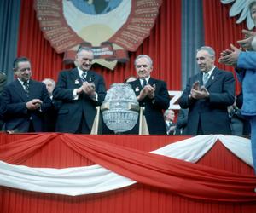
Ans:
[[[71,196],[101,193],[134,184],[100,165],[65,169],[32,168],[0,161],[0,185]]]

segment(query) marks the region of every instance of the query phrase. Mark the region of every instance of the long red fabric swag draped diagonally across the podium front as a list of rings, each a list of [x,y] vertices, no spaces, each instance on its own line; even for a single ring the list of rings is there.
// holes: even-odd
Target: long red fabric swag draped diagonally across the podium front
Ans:
[[[0,146],[0,159],[20,164],[49,142],[62,141],[84,158],[132,180],[184,197],[226,202],[256,201],[256,178],[192,164],[84,135],[38,134]],[[65,146],[65,145],[64,145]],[[84,180],[86,181],[86,180]]]

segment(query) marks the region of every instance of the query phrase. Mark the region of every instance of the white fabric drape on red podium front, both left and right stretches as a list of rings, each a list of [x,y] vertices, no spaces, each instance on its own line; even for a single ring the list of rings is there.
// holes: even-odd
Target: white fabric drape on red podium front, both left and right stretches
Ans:
[[[253,165],[250,140],[238,136],[200,135],[161,147],[151,153],[192,163],[204,156],[219,139],[238,158]],[[76,196],[102,193],[136,183],[100,165],[65,169],[32,168],[0,161],[0,186],[40,193]]]

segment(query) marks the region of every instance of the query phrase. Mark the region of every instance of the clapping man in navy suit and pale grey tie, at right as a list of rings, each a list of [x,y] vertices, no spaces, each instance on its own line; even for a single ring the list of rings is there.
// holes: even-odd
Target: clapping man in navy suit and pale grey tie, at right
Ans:
[[[211,47],[198,49],[196,60],[201,72],[189,78],[179,101],[182,108],[189,108],[186,133],[231,135],[227,107],[235,101],[235,78],[214,66]]]

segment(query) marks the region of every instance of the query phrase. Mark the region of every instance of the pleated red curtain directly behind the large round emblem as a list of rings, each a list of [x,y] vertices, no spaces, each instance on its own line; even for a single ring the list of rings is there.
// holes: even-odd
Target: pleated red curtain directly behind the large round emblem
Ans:
[[[175,32],[175,33],[172,33]],[[181,89],[181,1],[164,0],[160,7],[160,14],[156,19],[150,36],[137,49],[130,53],[130,60],[126,64],[118,64],[113,71],[94,66],[94,70],[102,73],[107,87],[111,83],[120,83],[125,78],[136,75],[133,63],[139,54],[149,55],[154,60],[154,78],[165,80],[167,88]],[[21,1],[20,35],[18,56],[23,55],[32,60],[32,75],[36,80],[54,78],[64,68],[63,55],[56,54],[49,42],[44,39],[33,9],[32,0]]]

